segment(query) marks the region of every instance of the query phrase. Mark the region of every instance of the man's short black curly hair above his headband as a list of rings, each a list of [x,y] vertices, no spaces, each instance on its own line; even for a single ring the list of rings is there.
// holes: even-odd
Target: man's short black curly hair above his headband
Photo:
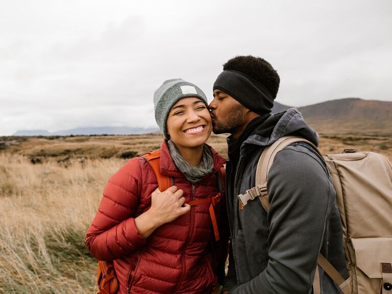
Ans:
[[[278,72],[269,62],[260,57],[236,56],[223,65],[223,70],[237,70],[255,79],[276,97],[279,89],[280,78]]]

